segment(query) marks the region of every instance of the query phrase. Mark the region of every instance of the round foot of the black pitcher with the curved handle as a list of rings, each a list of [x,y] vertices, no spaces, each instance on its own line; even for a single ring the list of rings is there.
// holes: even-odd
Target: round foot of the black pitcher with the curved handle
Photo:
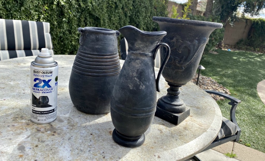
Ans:
[[[137,137],[129,137],[129,136],[122,135],[116,129],[114,129],[112,132],[112,138],[117,144],[121,146],[125,146],[125,147],[141,146],[142,144],[144,144],[144,140],[145,140],[144,134],[137,136]]]

